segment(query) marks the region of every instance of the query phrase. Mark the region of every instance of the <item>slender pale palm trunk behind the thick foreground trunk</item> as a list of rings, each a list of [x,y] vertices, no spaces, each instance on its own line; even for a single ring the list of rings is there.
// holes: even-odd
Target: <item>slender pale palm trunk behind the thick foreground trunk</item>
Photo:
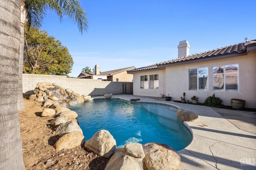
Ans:
[[[23,73],[23,51],[24,51],[24,25],[26,22],[26,11],[25,11],[25,2],[21,1],[20,8],[20,58],[19,58],[19,77],[18,77],[18,102],[17,108],[18,111],[25,110],[24,101],[23,101],[23,92],[22,92],[22,73]]]

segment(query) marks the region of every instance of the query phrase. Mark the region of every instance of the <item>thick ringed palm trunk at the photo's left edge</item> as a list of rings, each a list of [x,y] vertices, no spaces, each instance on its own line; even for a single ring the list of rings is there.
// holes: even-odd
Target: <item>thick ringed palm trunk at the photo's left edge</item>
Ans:
[[[20,0],[0,0],[0,169],[25,170],[17,110]]]

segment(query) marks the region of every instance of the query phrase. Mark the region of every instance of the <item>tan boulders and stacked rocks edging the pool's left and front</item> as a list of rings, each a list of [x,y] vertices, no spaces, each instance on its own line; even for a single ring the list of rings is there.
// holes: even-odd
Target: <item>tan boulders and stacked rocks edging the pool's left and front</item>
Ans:
[[[62,107],[63,104],[55,95],[50,93],[49,88],[58,88],[63,90],[58,84],[44,82],[38,83],[34,90],[33,95],[30,96],[30,100],[43,102],[46,107],[41,116],[53,117],[50,123],[52,129],[56,131],[56,134],[60,136],[58,141],[54,144],[54,149],[72,149],[77,146],[84,146],[84,148],[91,150],[99,156],[110,158],[105,170],[151,170],[161,169],[166,170],[180,170],[181,160],[179,154],[168,145],[159,143],[147,143],[141,145],[140,143],[131,143],[125,145],[124,148],[116,149],[116,140],[106,130],[98,131],[94,136],[85,141],[82,129],[78,125],[77,113],[71,111],[66,107]],[[65,96],[72,96],[78,102],[84,102],[90,100],[90,96],[82,96],[82,100],[79,94],[74,93],[70,89],[60,91],[60,94]],[[106,98],[110,98],[112,94],[105,95]],[[61,99],[64,100],[64,99]],[[63,102],[63,101],[62,101]],[[65,101],[68,103],[69,101]],[[66,106],[69,106],[67,104]],[[47,162],[46,162],[47,163]]]

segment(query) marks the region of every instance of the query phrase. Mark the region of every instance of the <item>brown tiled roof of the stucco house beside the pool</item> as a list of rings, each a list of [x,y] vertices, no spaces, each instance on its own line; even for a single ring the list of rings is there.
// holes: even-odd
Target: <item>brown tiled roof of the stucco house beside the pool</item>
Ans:
[[[235,56],[238,53],[246,52],[247,47],[251,44],[256,44],[256,39],[247,41],[247,42],[243,42],[243,43],[229,45],[226,47],[221,47],[221,48],[206,51],[203,53],[193,54],[193,55],[181,57],[178,59],[173,59],[173,60],[164,61],[161,63],[156,63],[156,64],[153,64],[150,66],[144,66],[144,67],[137,68],[134,70],[129,70],[127,72],[132,73],[132,72],[144,71],[144,70],[149,70],[149,69],[150,70],[160,69],[161,67],[165,67],[165,66],[168,66],[171,64],[194,63],[194,62],[202,61],[202,60],[217,59],[218,57],[223,57],[223,56],[232,55],[232,54],[234,54],[234,56]]]

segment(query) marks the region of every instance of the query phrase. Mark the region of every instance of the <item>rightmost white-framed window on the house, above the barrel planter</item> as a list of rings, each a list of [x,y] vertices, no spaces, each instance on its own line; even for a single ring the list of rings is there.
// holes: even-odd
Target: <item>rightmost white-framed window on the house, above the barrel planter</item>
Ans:
[[[212,67],[213,90],[238,92],[238,64]]]

